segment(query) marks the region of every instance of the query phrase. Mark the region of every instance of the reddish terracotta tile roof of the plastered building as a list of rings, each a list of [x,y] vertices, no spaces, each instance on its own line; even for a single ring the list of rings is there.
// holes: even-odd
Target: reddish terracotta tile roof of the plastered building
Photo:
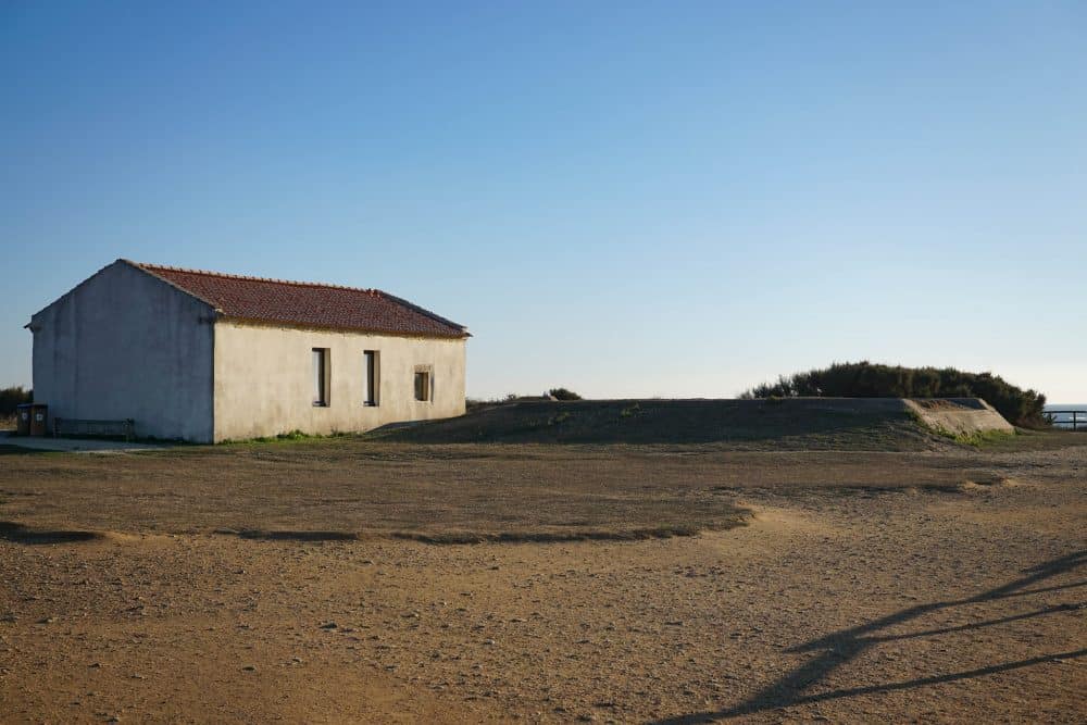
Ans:
[[[128,263],[203,300],[226,317],[391,335],[468,336],[463,325],[379,289]]]

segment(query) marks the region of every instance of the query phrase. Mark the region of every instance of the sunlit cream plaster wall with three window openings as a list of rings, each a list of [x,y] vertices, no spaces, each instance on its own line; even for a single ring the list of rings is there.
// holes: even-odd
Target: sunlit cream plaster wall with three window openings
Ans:
[[[313,404],[313,348],[328,348],[327,407]],[[364,350],[380,352],[378,405],[364,404]],[[464,413],[462,339],[390,337],[215,325],[215,440],[368,430],[387,423]],[[414,397],[416,365],[433,366],[433,400]]]

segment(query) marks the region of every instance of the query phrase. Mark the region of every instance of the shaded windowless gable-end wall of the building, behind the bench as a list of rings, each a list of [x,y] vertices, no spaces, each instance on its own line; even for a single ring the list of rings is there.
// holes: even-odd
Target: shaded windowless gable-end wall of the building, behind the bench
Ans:
[[[212,310],[114,262],[34,315],[34,399],[50,417],[136,421],[136,435],[210,441]]]

